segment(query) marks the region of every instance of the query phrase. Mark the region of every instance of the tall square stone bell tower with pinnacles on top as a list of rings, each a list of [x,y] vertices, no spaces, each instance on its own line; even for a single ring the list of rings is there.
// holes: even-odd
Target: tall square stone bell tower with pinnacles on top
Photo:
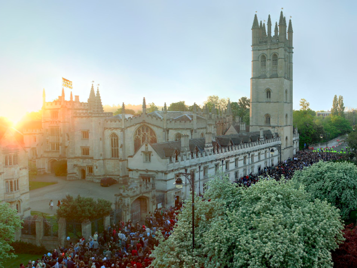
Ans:
[[[293,148],[293,28],[283,11],[271,32],[254,16],[250,79],[250,131],[270,129],[282,140],[282,160]]]

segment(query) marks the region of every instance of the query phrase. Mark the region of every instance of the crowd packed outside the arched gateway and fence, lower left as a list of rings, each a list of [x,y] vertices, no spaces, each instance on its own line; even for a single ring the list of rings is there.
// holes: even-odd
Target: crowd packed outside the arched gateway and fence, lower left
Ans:
[[[119,222],[103,233],[95,232],[88,240],[70,242],[66,248],[55,249],[41,259],[20,264],[20,268],[145,268],[151,264],[151,251],[157,246],[155,236],[161,232],[167,239],[177,222],[176,213],[182,203],[167,210],[149,212],[144,225]]]

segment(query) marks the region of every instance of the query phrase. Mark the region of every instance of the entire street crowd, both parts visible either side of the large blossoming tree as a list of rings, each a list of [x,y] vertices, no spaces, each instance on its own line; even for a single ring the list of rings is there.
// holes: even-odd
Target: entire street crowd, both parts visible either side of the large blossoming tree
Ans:
[[[239,186],[251,186],[260,177],[270,177],[280,180],[291,179],[295,170],[311,166],[318,161],[333,161],[343,159],[342,154],[331,151],[299,151],[293,159],[279,162],[270,167],[259,168],[258,174],[241,177],[235,182]],[[66,248],[55,249],[41,259],[29,261],[20,268],[145,268],[151,264],[151,251],[157,246],[155,236],[161,232],[167,239],[177,222],[176,213],[182,203],[167,210],[157,209],[146,216],[144,225],[119,222],[118,225],[108,226],[103,233],[95,232],[88,240],[84,237],[77,243],[69,243]]]

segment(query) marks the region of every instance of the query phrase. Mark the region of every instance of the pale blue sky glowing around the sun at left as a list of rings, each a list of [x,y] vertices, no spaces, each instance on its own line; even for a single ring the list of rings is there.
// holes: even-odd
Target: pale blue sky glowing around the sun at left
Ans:
[[[61,94],[103,104],[202,104],[250,95],[251,26],[281,8],[294,30],[294,109],[305,98],[356,107],[357,1],[0,0],[0,116],[18,119]],[[69,89],[66,99],[69,99]]]

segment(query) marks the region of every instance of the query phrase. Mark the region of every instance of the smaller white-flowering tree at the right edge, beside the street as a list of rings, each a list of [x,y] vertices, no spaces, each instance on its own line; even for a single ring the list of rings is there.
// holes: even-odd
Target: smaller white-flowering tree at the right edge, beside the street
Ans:
[[[326,200],[340,209],[343,220],[357,209],[357,167],[351,163],[320,161],[296,171],[293,180],[306,186],[311,200]]]

